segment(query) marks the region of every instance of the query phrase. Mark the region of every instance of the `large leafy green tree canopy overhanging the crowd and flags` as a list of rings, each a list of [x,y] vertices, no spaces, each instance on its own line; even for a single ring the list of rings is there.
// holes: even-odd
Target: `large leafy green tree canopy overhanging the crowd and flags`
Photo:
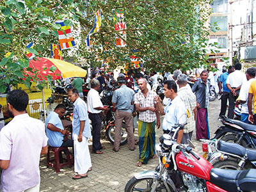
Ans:
[[[204,65],[205,45],[209,29],[205,22],[210,10],[209,0],[8,0],[0,2],[0,92],[4,83],[23,82],[27,87],[31,77],[24,76],[29,60],[26,51],[36,56],[49,57],[51,43],[58,44],[60,25],[57,19],[73,26],[73,31],[83,28],[80,36],[86,39],[93,27],[95,12],[101,8],[102,26],[92,34],[93,49],[88,50],[84,42],[77,44],[76,59],[88,61],[108,60],[111,68],[130,63],[131,55],[145,61],[148,69],[187,70]],[[127,22],[126,47],[115,46],[115,21],[113,10],[125,10]],[[33,42],[33,48],[27,48]],[[101,47],[102,49],[95,49]],[[9,56],[6,54],[9,53]],[[64,55],[67,51],[64,51]],[[19,64],[17,63],[19,61]],[[52,69],[54,70],[54,69]],[[38,77],[33,77],[38,81]],[[48,77],[51,81],[51,77]],[[44,84],[44,81],[42,82]],[[42,89],[42,86],[39,86]]]

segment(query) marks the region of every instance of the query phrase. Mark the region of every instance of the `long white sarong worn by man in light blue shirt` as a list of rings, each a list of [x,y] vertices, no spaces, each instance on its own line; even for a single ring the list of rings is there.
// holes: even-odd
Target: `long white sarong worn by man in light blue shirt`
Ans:
[[[88,138],[83,136],[83,141],[74,140],[75,172],[83,175],[92,167],[90,151],[88,147]]]

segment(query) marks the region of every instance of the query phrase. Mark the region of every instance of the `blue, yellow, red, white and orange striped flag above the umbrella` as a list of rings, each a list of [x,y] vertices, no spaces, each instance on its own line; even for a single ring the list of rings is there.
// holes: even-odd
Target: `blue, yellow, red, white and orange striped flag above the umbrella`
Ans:
[[[65,31],[65,33],[66,33],[66,34],[63,33],[62,30],[58,31],[59,42],[60,42],[61,49],[64,50],[64,49],[69,49],[70,47],[76,46],[76,44],[74,42],[74,38],[72,37],[70,26],[65,26],[64,20],[57,20],[55,23],[60,24],[61,29],[63,31]]]

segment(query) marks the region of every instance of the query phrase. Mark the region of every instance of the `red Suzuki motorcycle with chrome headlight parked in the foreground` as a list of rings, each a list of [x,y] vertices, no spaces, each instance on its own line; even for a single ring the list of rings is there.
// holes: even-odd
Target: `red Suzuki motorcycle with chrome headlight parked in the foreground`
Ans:
[[[193,144],[177,144],[175,125],[156,145],[156,171],[136,173],[125,186],[130,191],[255,191],[256,170],[221,170],[192,150]]]

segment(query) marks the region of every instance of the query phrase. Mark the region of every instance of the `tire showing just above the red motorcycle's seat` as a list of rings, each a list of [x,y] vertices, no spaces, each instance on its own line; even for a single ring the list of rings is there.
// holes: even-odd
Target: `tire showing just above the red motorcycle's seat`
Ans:
[[[238,163],[239,163],[239,161],[226,159],[224,161],[218,161],[218,162],[212,164],[212,166],[214,168],[220,168],[223,170],[237,170]],[[246,163],[241,170],[248,170],[250,168],[253,168],[253,167],[250,164]]]

